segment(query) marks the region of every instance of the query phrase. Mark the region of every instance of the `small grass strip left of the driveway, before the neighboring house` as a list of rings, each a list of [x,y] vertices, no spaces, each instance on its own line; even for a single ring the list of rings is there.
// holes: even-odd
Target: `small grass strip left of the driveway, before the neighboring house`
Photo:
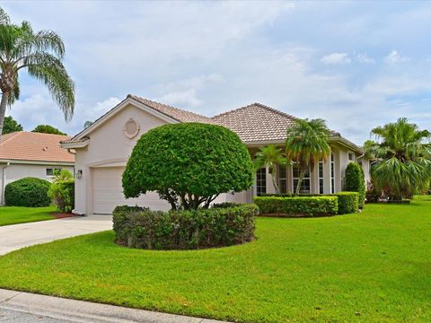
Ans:
[[[0,206],[0,226],[31,223],[44,220],[52,220],[56,217],[52,215],[56,211],[55,206],[48,207],[21,207],[21,206]]]

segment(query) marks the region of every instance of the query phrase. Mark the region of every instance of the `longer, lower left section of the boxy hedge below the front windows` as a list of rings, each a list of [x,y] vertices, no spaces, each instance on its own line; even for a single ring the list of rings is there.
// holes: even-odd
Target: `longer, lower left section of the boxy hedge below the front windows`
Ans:
[[[338,213],[337,196],[254,196],[260,214],[319,216]]]

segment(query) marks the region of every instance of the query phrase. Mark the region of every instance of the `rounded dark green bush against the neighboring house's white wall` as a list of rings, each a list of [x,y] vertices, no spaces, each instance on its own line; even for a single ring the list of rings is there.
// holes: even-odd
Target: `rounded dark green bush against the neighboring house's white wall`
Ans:
[[[8,206],[48,206],[51,199],[48,189],[51,183],[45,179],[18,179],[4,188],[4,203]]]

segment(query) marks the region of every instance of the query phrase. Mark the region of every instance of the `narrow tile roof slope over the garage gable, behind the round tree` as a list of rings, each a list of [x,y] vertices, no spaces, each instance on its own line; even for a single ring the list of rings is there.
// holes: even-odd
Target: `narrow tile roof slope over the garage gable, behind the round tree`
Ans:
[[[128,98],[144,103],[146,106],[162,112],[164,115],[174,118],[180,122],[214,123],[211,118],[207,118],[205,116],[183,109],[174,108],[166,104],[158,103],[154,100],[144,99],[132,94],[128,94]]]

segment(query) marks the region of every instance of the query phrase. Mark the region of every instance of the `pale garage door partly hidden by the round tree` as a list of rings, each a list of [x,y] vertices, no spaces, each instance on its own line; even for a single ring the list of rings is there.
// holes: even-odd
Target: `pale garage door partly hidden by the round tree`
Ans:
[[[152,210],[169,210],[170,205],[157,193],[126,199],[121,186],[124,167],[92,169],[92,207],[94,214],[111,214],[117,205],[140,205]]]

